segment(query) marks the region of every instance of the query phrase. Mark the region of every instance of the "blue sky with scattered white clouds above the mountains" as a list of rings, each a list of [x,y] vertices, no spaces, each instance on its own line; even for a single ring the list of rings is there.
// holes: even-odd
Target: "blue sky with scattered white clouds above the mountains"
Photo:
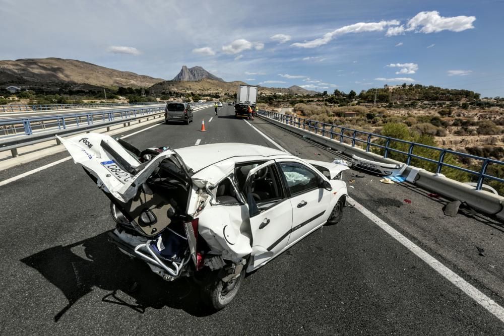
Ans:
[[[504,1],[0,0],[0,59],[345,92],[418,83],[504,96]]]

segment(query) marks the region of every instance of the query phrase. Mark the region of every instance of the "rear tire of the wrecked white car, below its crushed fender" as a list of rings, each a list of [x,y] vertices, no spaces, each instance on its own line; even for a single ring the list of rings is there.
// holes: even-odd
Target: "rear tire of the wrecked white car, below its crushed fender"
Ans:
[[[241,270],[238,278],[224,283],[218,276],[219,272],[212,272],[202,286],[202,300],[213,310],[221,310],[236,297],[241,283],[245,278],[246,266]]]

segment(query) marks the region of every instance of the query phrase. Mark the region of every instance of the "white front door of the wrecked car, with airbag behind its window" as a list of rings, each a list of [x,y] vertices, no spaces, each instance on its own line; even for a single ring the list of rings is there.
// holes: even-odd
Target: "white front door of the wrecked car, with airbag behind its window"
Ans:
[[[278,160],[292,206],[292,232],[288,245],[295,244],[319,227],[327,216],[331,191],[321,186],[322,175],[300,161]]]

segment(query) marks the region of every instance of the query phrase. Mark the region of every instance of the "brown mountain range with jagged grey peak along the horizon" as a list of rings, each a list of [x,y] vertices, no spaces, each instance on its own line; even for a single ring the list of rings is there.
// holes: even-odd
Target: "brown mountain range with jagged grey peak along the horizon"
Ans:
[[[62,58],[25,58],[0,60],[0,86],[18,86],[46,92],[69,90],[99,91],[117,87],[149,88],[151,93],[195,92],[199,94],[233,94],[244,82],[225,82],[201,66],[187,68],[183,65],[171,81],[138,75],[128,71],[105,68],[96,64]],[[299,86],[290,88],[261,87],[263,94],[313,94]]]

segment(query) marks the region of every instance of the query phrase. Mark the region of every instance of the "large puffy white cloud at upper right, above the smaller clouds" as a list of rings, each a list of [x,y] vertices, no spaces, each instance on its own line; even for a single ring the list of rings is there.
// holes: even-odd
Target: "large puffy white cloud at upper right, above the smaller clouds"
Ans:
[[[452,32],[461,32],[466,29],[473,29],[474,16],[455,16],[442,17],[437,11],[420,12],[408,21],[406,31],[415,31],[420,33],[438,33],[443,30]]]

